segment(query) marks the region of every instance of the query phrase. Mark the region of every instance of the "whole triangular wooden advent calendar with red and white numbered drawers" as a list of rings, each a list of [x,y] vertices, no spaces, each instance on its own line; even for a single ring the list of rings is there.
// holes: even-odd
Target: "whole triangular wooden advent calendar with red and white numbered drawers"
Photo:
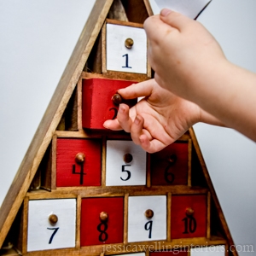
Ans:
[[[147,154],[102,126],[116,90],[152,78],[148,15],[96,1],[1,207],[1,255],[237,255],[192,128]]]

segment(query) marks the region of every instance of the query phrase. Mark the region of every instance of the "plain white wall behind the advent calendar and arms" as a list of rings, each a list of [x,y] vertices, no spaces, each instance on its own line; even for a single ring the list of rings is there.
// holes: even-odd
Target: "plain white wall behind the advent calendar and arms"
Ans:
[[[0,0],[0,205],[94,2]],[[198,19],[230,61],[253,72],[255,10],[255,0],[212,0]],[[211,125],[195,125],[195,133],[237,249],[255,255],[242,252],[256,251],[255,143]]]

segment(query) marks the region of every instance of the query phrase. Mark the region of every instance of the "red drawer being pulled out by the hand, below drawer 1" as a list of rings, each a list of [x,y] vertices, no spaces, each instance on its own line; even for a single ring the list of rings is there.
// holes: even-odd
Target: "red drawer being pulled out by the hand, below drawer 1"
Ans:
[[[82,93],[82,124],[84,128],[105,129],[103,123],[113,119],[118,105],[113,104],[112,97],[118,89],[125,88],[137,82],[113,79],[84,79]],[[137,99],[125,100],[132,107]]]

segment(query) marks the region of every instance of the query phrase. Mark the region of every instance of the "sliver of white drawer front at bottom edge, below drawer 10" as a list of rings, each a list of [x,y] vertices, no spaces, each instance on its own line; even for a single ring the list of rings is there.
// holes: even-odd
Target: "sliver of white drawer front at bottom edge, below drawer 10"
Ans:
[[[225,256],[225,246],[195,247],[191,248],[191,256]]]

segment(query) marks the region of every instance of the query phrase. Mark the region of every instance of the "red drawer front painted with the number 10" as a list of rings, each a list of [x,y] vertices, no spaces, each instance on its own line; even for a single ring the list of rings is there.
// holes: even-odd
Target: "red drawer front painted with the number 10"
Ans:
[[[192,218],[186,215],[189,207]],[[207,236],[207,195],[172,195],[171,208],[172,239]]]

